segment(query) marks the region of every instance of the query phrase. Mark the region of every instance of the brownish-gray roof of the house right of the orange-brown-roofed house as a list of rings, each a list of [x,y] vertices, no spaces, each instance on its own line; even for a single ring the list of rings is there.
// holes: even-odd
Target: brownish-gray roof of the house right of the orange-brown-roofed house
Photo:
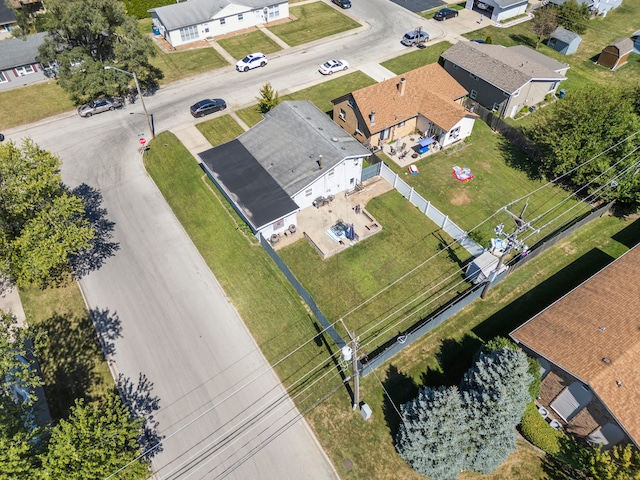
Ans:
[[[557,70],[567,65],[535,50],[517,45],[458,42],[442,54],[442,58],[511,94],[532,80],[565,80]]]

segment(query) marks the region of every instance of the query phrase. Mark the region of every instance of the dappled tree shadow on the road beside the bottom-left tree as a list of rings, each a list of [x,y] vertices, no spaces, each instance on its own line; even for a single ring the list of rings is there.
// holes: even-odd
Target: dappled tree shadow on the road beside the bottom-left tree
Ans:
[[[153,382],[143,373],[138,375],[137,383],[121,374],[118,375],[116,386],[131,415],[142,420],[140,448],[145,453],[145,458],[151,460],[162,451],[161,442],[164,438],[158,434],[158,421],[154,416],[154,412],[160,409],[160,398],[151,395]]]

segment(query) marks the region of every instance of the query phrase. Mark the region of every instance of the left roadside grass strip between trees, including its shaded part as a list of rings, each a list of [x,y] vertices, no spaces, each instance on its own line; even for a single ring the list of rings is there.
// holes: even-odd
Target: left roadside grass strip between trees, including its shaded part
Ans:
[[[20,289],[27,323],[41,333],[37,352],[44,391],[54,420],[65,418],[75,399],[96,399],[113,388],[113,378],[75,282],[59,288]],[[117,336],[118,316],[99,311],[94,317],[111,325]]]

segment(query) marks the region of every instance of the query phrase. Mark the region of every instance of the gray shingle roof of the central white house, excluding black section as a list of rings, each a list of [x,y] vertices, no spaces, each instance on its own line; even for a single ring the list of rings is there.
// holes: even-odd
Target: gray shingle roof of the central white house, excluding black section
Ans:
[[[282,102],[238,140],[290,196],[346,157],[371,155],[309,101]]]

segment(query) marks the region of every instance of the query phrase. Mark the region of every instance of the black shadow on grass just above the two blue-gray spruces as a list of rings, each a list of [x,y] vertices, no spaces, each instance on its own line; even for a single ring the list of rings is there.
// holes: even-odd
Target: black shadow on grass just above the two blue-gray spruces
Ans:
[[[440,349],[436,353],[440,369],[427,369],[420,376],[422,386],[457,387],[481,347],[482,342],[471,335],[465,335],[461,340],[441,340]]]

